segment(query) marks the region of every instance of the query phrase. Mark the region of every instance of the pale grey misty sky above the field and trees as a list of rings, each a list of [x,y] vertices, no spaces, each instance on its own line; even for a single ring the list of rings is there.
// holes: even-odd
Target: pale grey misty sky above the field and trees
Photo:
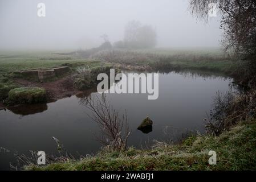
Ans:
[[[37,5],[46,5],[39,18]],[[130,20],[157,31],[157,47],[216,47],[220,18],[208,24],[188,12],[188,0],[0,0],[0,49],[78,49],[99,46],[101,35],[123,39]]]

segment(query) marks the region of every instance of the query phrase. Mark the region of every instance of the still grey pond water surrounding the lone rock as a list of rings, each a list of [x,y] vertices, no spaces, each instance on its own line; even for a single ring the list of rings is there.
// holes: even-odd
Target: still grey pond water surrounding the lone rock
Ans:
[[[128,145],[149,147],[153,140],[177,140],[181,133],[197,130],[204,133],[206,112],[213,104],[217,91],[230,89],[231,78],[201,76],[192,73],[160,73],[159,98],[148,100],[147,94],[107,94],[107,99],[120,111],[127,110],[132,131]],[[56,153],[52,137],[60,140],[72,154],[95,153],[100,149],[99,128],[81,105],[84,97],[94,97],[96,89],[78,96],[63,98],[48,104],[14,107],[0,111],[0,169],[9,169],[14,163],[13,152],[30,154],[29,150]],[[152,132],[145,134],[137,127],[149,116]]]

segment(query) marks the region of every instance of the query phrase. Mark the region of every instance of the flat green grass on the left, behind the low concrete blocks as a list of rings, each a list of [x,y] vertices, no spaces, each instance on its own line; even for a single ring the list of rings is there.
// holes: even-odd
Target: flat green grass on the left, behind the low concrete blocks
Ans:
[[[100,61],[57,55],[54,52],[0,52],[0,99],[5,99],[11,89],[18,87],[13,81],[13,77],[16,77],[14,71],[47,69],[63,65],[74,71],[79,66],[94,68],[100,64]]]

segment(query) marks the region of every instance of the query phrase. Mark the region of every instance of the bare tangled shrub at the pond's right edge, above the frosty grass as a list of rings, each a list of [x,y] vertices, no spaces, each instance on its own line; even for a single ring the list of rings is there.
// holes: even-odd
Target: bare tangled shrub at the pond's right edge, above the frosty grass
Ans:
[[[206,130],[209,133],[220,135],[223,130],[229,129],[238,122],[250,121],[255,118],[256,91],[245,94],[217,92],[214,100],[214,109],[210,111],[206,119]]]

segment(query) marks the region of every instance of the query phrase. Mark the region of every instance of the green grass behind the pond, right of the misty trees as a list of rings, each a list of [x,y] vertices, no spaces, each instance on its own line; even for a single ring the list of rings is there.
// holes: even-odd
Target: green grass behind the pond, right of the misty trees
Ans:
[[[166,59],[149,63],[156,68],[214,71],[231,75],[241,66],[239,61],[226,57],[220,48],[152,49],[142,52],[167,55]]]

